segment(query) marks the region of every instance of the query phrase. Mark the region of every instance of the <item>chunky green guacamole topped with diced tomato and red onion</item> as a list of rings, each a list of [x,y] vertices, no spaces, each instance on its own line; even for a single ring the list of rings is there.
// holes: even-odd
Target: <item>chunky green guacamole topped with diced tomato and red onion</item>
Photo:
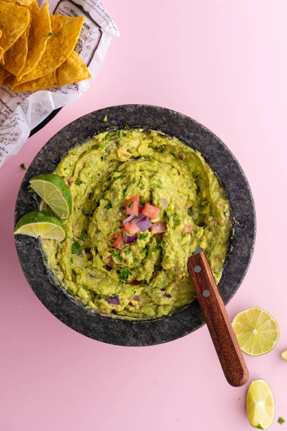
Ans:
[[[130,319],[187,306],[196,297],[187,259],[197,247],[219,282],[231,209],[198,151],[159,131],[110,131],[74,147],[54,173],[73,206],[62,220],[66,239],[43,239],[43,250],[59,283],[85,306]]]

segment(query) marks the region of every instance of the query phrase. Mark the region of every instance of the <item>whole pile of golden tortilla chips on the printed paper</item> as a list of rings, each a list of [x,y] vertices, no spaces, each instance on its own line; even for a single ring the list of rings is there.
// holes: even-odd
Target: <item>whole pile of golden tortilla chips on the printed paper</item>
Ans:
[[[49,14],[49,3],[0,1],[0,87],[37,91],[91,77],[74,51],[84,17]]]

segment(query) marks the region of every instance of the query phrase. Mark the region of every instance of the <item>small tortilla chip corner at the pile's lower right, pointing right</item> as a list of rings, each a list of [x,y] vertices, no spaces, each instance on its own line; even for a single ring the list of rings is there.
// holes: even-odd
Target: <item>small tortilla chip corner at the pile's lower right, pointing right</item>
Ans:
[[[73,51],[66,61],[57,69],[57,85],[67,85],[83,81],[92,75],[78,54]]]

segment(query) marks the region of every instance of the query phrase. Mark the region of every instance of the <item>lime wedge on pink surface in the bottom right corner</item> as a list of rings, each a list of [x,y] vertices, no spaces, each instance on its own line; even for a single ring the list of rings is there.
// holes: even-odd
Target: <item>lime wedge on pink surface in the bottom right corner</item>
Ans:
[[[272,390],[265,380],[253,380],[246,396],[246,410],[250,425],[265,430],[272,425],[275,403]]]

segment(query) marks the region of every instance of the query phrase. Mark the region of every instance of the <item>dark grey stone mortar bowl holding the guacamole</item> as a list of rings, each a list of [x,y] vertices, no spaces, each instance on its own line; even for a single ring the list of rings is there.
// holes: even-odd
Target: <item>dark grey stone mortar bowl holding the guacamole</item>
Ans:
[[[106,114],[108,122],[103,122]],[[100,132],[124,128],[125,124],[176,136],[200,151],[221,179],[234,217],[234,234],[218,284],[226,305],[238,290],[253,254],[256,233],[253,197],[241,166],[225,144],[206,127],[179,112],[149,105],[111,106],[91,112],[62,128],[43,146],[29,166],[19,189],[14,223],[27,212],[40,207],[40,197],[37,202],[27,199],[30,178],[40,172],[53,172],[67,150],[76,144]],[[65,325],[94,340],[120,346],[150,346],[176,340],[205,323],[198,300],[157,320],[130,321],[100,316],[59,286],[45,262],[38,239],[15,235],[15,244],[25,277],[44,306]]]

